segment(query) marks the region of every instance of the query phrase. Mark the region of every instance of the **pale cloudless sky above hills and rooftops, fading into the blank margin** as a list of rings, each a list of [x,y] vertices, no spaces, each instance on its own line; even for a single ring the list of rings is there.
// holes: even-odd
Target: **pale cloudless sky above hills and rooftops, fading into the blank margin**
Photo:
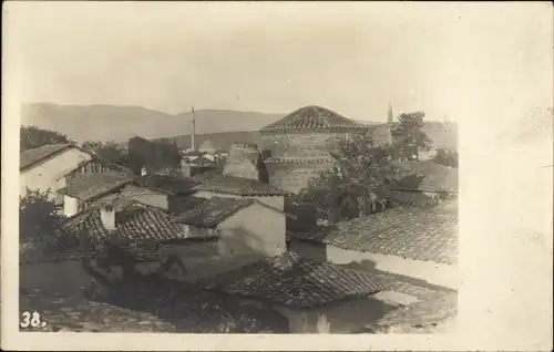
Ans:
[[[389,100],[394,114],[451,121],[552,106],[547,2],[12,2],[3,10],[24,103],[168,113],[193,102],[265,113],[320,105],[366,121],[386,121]]]

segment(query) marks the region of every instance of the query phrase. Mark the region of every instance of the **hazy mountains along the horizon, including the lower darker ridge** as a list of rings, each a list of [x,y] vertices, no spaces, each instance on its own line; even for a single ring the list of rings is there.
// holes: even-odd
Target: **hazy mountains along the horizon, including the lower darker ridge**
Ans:
[[[286,114],[237,112],[230,110],[197,110],[196,145],[212,139],[216,148],[228,149],[233,142],[260,143],[259,130]],[[357,121],[368,126],[382,123]],[[143,106],[58,105],[34,103],[22,106],[21,124],[57,131],[75,142],[115,141],[126,146],[134,136],[147,139],[171,138],[182,148],[191,146],[191,112],[167,114]],[[425,123],[425,132],[435,145],[454,147],[458,143],[455,124],[448,131],[440,122]]]

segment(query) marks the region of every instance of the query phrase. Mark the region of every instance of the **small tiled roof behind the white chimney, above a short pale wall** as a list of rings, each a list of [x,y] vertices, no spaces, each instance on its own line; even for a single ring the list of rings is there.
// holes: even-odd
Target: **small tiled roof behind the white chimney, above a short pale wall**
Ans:
[[[115,190],[133,180],[132,177],[117,173],[75,174],[68,182],[61,194],[90,200]]]

